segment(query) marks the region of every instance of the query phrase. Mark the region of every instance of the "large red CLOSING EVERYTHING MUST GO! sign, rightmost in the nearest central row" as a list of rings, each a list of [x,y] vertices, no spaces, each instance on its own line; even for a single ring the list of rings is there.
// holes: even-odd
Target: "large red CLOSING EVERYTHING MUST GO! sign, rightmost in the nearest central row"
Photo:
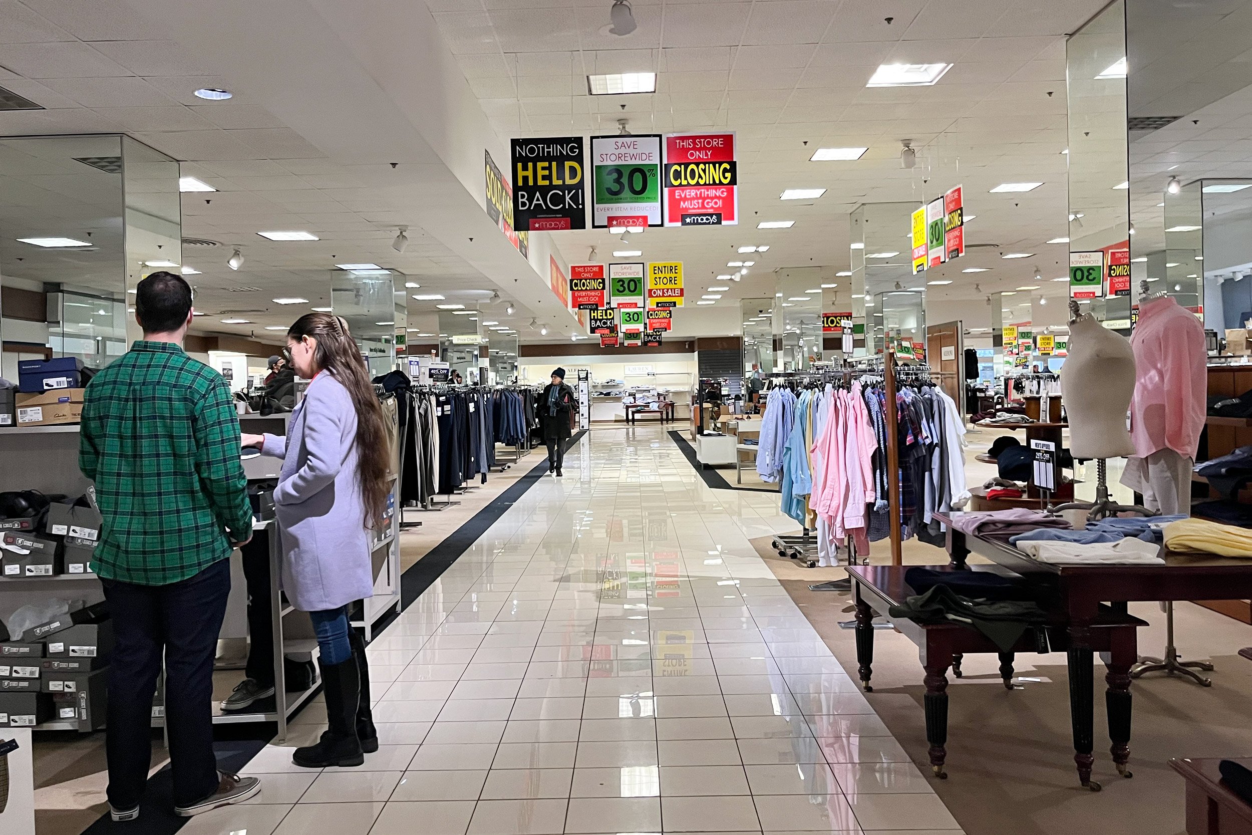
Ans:
[[[737,223],[735,134],[666,135],[665,225],[729,227]]]

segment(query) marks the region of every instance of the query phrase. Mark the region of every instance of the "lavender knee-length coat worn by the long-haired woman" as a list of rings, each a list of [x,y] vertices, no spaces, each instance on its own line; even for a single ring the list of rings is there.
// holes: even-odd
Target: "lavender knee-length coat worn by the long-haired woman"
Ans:
[[[265,434],[262,453],[283,459],[274,488],[283,591],[302,612],[338,608],[374,593],[356,437],[352,397],[329,371],[309,383],[287,437]]]

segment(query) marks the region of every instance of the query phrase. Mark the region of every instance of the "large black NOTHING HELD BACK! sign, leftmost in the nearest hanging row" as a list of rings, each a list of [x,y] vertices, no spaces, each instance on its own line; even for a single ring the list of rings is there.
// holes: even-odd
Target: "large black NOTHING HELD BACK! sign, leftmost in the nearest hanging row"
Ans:
[[[586,229],[582,136],[515,139],[512,151],[517,228]]]

